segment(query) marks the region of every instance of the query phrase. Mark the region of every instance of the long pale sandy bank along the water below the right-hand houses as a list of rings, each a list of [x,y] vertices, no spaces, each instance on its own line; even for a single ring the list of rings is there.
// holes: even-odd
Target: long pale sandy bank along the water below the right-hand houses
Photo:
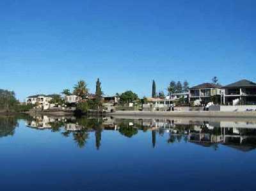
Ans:
[[[182,117],[182,118],[255,118],[256,112],[224,112],[224,111],[116,111],[108,116],[140,116],[140,117]]]

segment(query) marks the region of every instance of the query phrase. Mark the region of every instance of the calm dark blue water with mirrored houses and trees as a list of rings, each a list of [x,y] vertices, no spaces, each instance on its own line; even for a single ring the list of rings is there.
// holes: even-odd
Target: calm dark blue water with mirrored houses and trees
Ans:
[[[0,116],[1,190],[255,190],[256,119]]]

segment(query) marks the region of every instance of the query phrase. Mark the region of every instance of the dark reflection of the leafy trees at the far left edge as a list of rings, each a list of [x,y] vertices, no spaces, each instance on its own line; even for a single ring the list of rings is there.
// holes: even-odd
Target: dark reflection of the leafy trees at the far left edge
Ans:
[[[16,126],[18,126],[16,117],[14,116],[0,117],[0,137],[14,135]]]

